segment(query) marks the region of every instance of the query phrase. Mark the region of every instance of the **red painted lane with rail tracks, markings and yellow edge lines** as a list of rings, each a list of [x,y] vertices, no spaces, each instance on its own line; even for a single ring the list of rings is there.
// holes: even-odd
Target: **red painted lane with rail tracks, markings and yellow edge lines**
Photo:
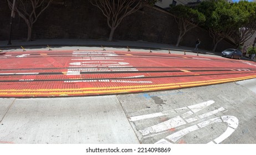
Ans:
[[[25,51],[0,55],[1,97],[86,96],[256,78],[256,63],[127,51]]]

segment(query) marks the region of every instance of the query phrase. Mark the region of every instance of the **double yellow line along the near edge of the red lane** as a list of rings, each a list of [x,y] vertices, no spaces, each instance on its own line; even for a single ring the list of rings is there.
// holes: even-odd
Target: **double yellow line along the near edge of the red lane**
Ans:
[[[175,84],[165,84],[162,85],[149,85],[149,86],[140,86],[139,88],[135,88],[135,86],[124,86],[124,87],[90,87],[90,88],[80,88],[80,89],[41,89],[41,90],[0,90],[4,92],[0,92],[0,95],[78,95],[78,94],[108,94],[108,93],[118,93],[118,92],[135,92],[135,91],[152,91],[152,90],[163,90],[163,89],[176,89],[182,87],[192,87],[192,86],[203,86],[203,85],[212,85],[212,84],[221,84],[224,82],[233,82],[238,80],[246,80],[256,78],[256,76],[245,76],[245,77],[237,77],[231,79],[221,79],[221,80],[208,80],[208,81],[196,81],[196,82],[182,82]],[[120,89],[119,89],[120,88]],[[106,90],[104,90],[106,89]],[[117,89],[117,90],[110,90]],[[119,90],[118,90],[119,89]],[[8,91],[8,92],[7,92]],[[16,91],[16,92],[10,92]],[[22,91],[22,92],[17,92]],[[25,91],[33,91],[33,92],[25,92]],[[37,91],[37,92],[35,92]],[[38,92],[39,91],[39,92]],[[42,92],[42,91],[52,91],[52,92]],[[62,92],[56,92],[62,91]],[[76,91],[76,92],[75,92]]]

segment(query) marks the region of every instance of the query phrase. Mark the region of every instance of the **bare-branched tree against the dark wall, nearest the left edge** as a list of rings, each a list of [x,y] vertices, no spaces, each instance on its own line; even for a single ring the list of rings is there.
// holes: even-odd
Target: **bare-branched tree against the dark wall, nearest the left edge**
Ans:
[[[31,41],[33,24],[37,22],[38,17],[42,12],[49,7],[53,0],[16,0],[14,11],[25,20],[28,26],[27,41]],[[12,8],[12,0],[7,0],[9,7]]]

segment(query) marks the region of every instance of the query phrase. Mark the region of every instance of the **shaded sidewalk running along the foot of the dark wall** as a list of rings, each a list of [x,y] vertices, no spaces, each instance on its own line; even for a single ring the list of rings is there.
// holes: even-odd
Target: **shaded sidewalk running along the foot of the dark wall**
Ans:
[[[113,42],[107,42],[103,40],[84,40],[84,39],[40,39],[33,40],[32,42],[25,42],[24,40],[13,40],[12,45],[7,45],[8,41],[0,41],[0,49],[4,48],[17,48],[17,47],[28,47],[28,46],[104,46],[104,47],[122,47],[122,48],[145,48],[145,49],[165,49],[165,50],[176,50],[176,51],[187,51],[193,53],[202,53],[202,54],[213,54],[220,55],[220,53],[214,53],[212,51],[198,49],[194,50],[191,47],[179,46],[176,47],[170,44],[159,44],[159,43],[150,43],[139,41],[122,41],[117,40]]]

